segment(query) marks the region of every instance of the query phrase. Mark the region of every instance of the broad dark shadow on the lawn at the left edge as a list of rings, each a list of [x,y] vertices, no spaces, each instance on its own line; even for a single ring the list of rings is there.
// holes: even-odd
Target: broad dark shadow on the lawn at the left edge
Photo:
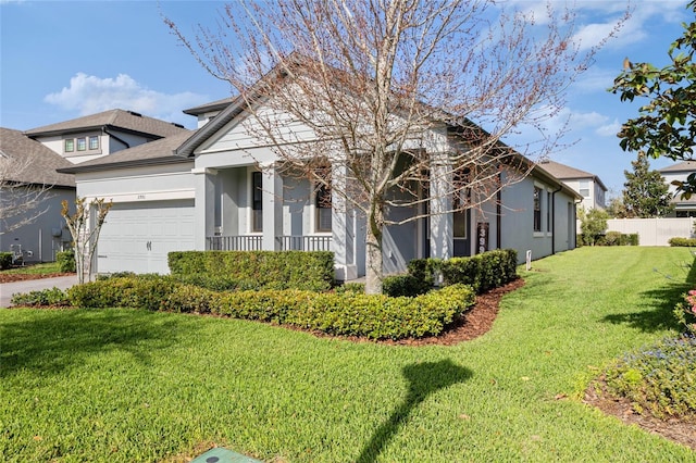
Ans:
[[[0,378],[23,370],[42,377],[64,373],[109,350],[147,363],[151,352],[174,345],[181,329],[172,318],[133,310],[25,312],[18,318],[0,324]]]

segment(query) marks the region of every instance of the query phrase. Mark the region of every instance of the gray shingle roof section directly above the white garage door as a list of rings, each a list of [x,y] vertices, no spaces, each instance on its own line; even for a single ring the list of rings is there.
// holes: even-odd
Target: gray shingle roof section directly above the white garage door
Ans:
[[[189,159],[174,155],[173,151],[194,134],[194,130],[184,130],[171,137],[116,151],[80,164],[71,164],[70,167],[62,168],[61,172],[75,174],[79,172],[108,171],[117,167],[135,167],[138,165],[190,162]]]

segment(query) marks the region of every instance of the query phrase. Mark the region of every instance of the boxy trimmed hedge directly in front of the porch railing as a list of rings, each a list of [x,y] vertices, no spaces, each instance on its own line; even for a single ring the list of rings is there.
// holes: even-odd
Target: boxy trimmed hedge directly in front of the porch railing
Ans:
[[[178,251],[169,253],[169,266],[204,287],[324,291],[334,285],[334,253],[327,251]],[[201,283],[206,278],[217,280]]]

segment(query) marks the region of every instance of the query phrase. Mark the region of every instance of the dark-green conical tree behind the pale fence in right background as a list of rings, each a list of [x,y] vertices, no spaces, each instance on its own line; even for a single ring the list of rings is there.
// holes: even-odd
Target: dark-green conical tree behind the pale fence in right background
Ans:
[[[664,177],[657,171],[650,171],[647,157],[639,152],[631,162],[633,172],[623,171],[626,182],[623,184],[623,204],[625,216],[650,218],[663,217],[674,209],[672,193]]]

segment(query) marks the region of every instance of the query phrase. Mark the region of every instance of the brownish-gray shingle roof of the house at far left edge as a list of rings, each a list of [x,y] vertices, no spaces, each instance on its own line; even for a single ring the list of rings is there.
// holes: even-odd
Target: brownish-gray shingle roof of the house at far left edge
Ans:
[[[55,172],[73,164],[20,130],[0,127],[0,171],[23,184],[75,187],[75,177]]]

